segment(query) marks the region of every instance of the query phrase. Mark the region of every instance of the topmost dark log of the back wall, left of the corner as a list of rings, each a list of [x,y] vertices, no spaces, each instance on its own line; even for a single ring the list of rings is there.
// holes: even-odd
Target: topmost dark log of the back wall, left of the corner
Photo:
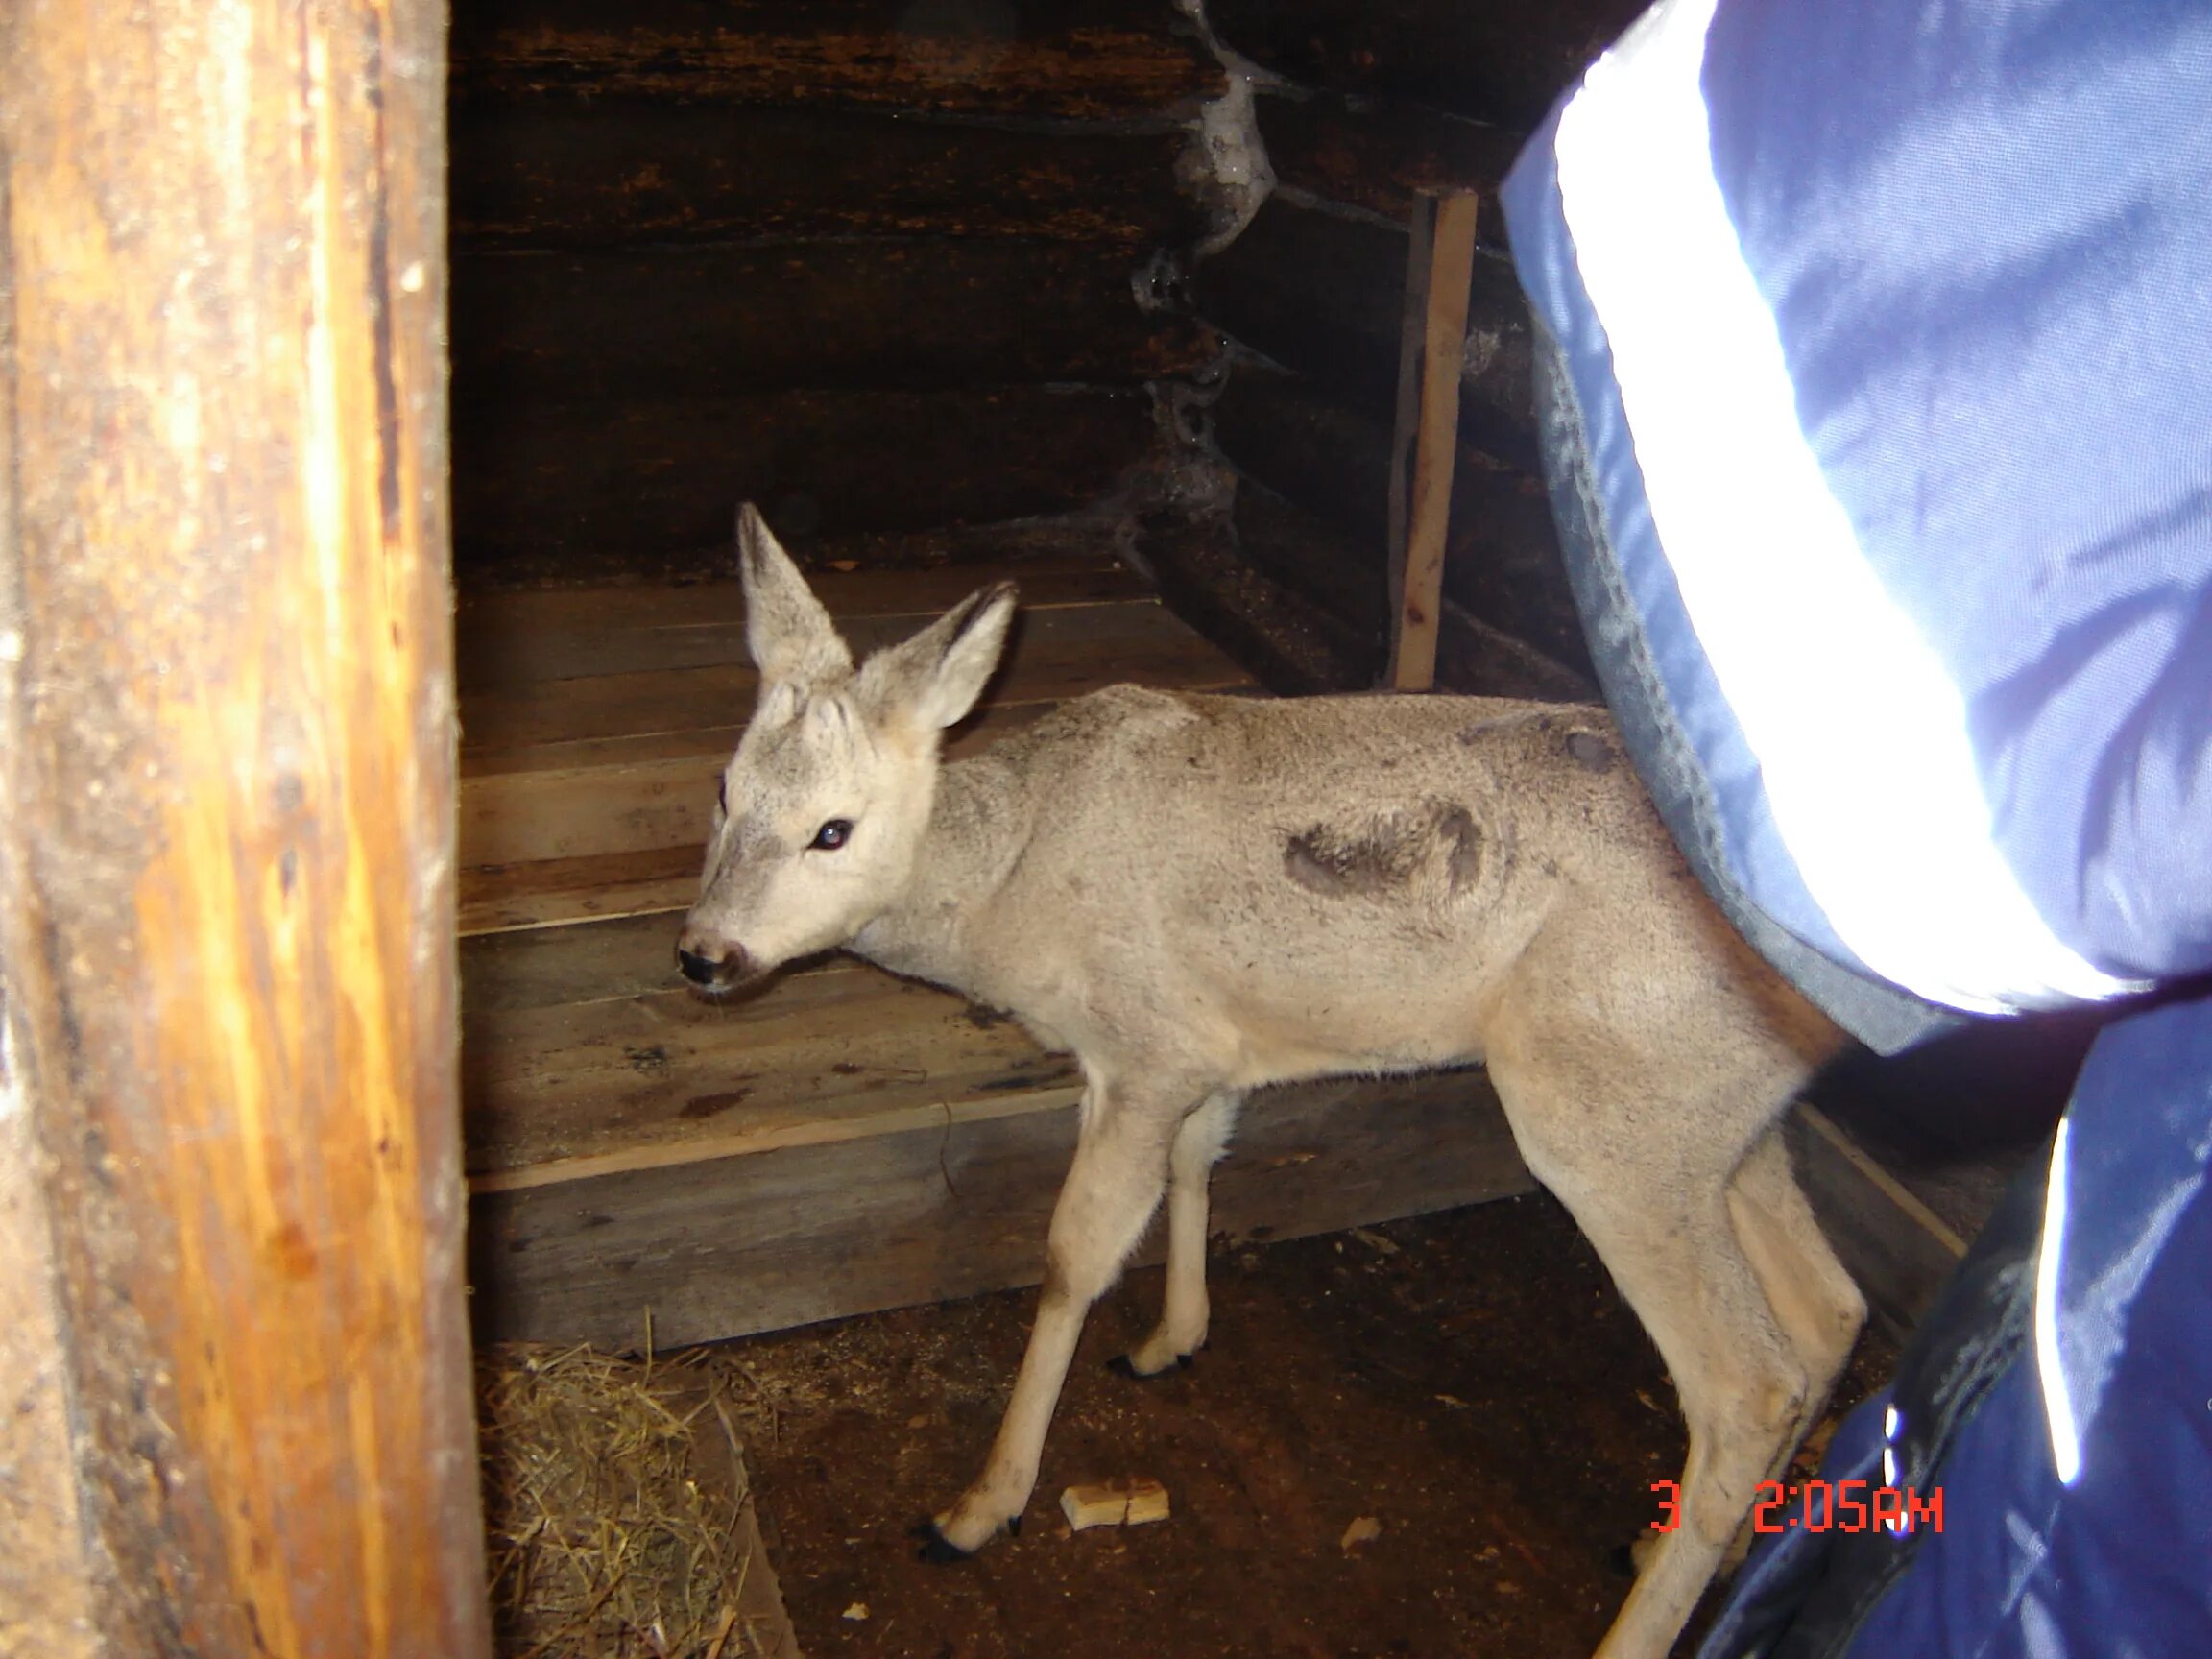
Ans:
[[[591,88],[907,113],[1175,117],[1221,66],[1148,0],[460,0],[467,93]]]

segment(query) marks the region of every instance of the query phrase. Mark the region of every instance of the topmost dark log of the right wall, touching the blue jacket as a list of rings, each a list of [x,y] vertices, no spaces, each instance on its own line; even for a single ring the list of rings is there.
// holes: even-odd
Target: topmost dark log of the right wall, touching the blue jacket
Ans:
[[[1528,131],[1644,0],[1212,0],[1221,42],[1307,86],[1455,111]]]

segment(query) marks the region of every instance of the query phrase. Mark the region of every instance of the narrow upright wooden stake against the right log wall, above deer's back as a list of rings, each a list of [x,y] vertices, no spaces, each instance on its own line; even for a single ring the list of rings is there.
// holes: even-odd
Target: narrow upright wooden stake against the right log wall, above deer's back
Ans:
[[[1475,270],[1473,195],[1436,204],[1429,250],[1429,319],[1420,372],[1420,436],[1413,451],[1413,511],[1405,538],[1391,686],[1427,690],[1436,681],[1436,624],[1444,595],[1444,531],[1451,520],[1451,460],[1460,434],[1460,361],[1467,352],[1467,301]]]

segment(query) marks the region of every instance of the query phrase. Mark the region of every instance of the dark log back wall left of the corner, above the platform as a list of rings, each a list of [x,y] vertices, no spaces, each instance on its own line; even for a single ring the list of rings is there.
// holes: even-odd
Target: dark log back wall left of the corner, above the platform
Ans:
[[[1168,0],[462,0],[456,560],[719,566],[1062,513],[1219,345],[1139,305],[1214,58]]]

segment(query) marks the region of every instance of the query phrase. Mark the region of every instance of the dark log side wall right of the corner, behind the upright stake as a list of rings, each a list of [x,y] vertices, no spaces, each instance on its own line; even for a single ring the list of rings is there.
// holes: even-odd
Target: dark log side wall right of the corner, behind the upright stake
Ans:
[[[1637,11],[1641,0],[1208,0],[1214,44],[1256,71],[1276,190],[1188,281],[1197,314],[1241,347],[1206,418],[1237,478],[1230,524],[1210,540],[1155,526],[1148,553],[1186,604],[1243,613],[1230,633],[1281,690],[1380,670],[1407,221],[1420,195],[1467,190],[1482,248],[1438,684],[1593,695],[1537,478],[1528,314],[1495,192],[1526,131]],[[1252,650],[1270,633],[1276,644]]]

